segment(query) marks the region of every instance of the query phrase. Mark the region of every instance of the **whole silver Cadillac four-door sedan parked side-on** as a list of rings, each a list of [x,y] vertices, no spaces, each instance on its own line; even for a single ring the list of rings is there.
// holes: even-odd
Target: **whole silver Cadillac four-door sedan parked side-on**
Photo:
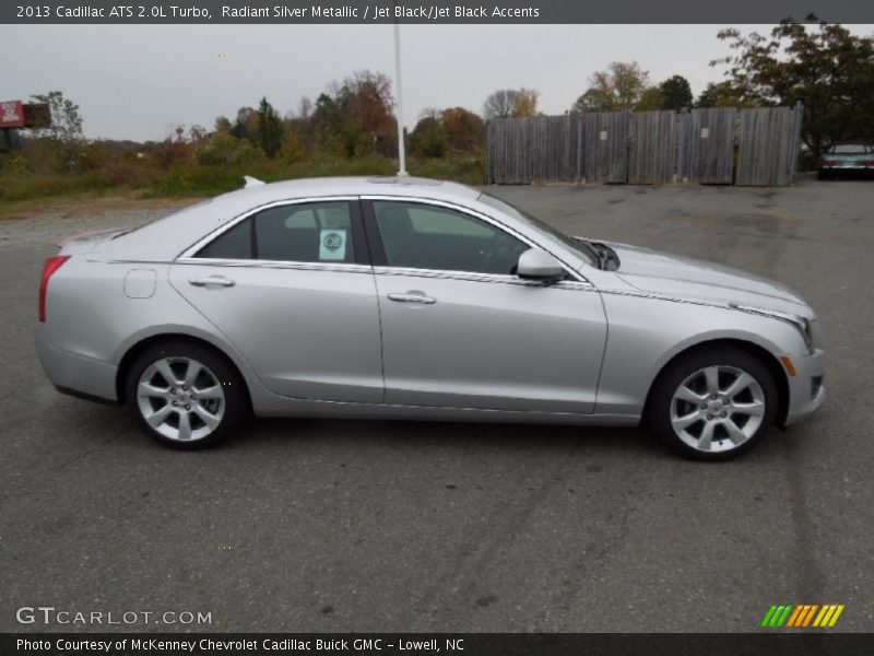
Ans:
[[[569,237],[452,183],[246,188],[46,261],[55,386],[212,445],[257,417],[636,425],[739,455],[823,402],[813,309],[768,279]]]

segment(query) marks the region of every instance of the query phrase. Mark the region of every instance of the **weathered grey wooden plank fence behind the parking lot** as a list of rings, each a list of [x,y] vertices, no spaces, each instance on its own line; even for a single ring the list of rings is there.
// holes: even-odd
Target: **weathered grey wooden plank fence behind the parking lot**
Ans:
[[[491,120],[488,181],[779,186],[795,179],[801,106]]]

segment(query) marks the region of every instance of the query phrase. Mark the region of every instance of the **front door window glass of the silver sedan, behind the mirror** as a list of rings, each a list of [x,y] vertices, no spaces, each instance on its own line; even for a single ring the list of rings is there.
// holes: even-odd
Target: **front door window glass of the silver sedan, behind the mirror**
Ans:
[[[515,273],[528,246],[475,216],[415,202],[373,203],[390,267]]]

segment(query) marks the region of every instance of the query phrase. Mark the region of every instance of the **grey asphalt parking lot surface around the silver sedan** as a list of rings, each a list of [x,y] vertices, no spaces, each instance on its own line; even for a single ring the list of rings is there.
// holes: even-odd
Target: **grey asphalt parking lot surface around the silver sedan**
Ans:
[[[61,237],[162,209],[0,222],[0,631],[15,610],[204,611],[161,631],[874,631],[874,185],[500,187],[559,229],[775,278],[817,309],[828,398],[728,464],[642,429],[260,420],[177,453],[57,394],[33,344]]]

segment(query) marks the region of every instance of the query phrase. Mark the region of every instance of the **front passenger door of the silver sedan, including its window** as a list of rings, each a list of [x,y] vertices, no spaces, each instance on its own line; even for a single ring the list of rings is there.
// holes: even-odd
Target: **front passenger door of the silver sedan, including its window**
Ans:
[[[592,412],[606,340],[592,288],[520,280],[530,244],[484,218],[403,200],[366,211],[387,403]]]

